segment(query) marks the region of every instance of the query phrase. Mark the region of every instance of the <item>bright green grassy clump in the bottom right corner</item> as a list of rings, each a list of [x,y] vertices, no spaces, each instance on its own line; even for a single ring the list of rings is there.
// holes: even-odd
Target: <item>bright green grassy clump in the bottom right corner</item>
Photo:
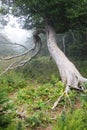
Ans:
[[[57,119],[53,130],[86,130],[87,128],[87,111],[78,109],[74,112],[63,112]]]

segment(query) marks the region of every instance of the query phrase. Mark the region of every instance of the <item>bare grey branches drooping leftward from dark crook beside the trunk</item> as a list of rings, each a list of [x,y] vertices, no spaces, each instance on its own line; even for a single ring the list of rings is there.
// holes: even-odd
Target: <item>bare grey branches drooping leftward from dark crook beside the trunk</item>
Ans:
[[[19,55],[15,55],[15,56],[10,56],[10,57],[0,57],[1,60],[11,60],[13,58],[15,58],[15,61],[12,62],[1,74],[6,73],[8,70],[12,70],[12,69],[16,69],[18,67],[24,66],[27,62],[29,62],[33,57],[35,57],[39,51],[41,50],[41,46],[42,46],[42,42],[41,42],[41,38],[39,37],[40,33],[45,33],[45,30],[37,30],[34,32],[33,34],[33,39],[34,39],[34,47],[32,49],[27,49],[25,48],[25,46],[23,46],[26,51],[22,54]],[[20,45],[20,44],[16,44],[14,43],[14,45]],[[22,58],[21,58],[22,57]],[[26,59],[26,57],[29,57]],[[16,58],[21,58],[21,59],[16,59]]]

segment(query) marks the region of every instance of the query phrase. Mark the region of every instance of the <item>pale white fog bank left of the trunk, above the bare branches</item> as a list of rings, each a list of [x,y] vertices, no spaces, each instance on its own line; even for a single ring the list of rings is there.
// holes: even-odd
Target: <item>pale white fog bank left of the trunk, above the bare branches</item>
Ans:
[[[2,52],[3,54],[9,52],[9,55],[11,55],[13,50],[15,53],[24,51],[22,46],[11,43],[22,44],[28,49],[32,48],[32,45],[34,45],[32,39],[32,30],[22,29],[19,19],[12,15],[4,18],[8,22],[6,25],[3,25],[3,17],[4,16],[2,16],[2,20],[0,18],[2,21],[0,22],[0,54],[2,54]]]

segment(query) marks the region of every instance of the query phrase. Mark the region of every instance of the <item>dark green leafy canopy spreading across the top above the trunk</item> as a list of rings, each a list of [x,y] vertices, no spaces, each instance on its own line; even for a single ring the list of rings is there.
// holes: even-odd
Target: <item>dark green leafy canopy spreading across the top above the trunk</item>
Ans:
[[[25,17],[26,28],[44,27],[46,20],[56,31],[87,27],[87,0],[4,0],[14,15]]]

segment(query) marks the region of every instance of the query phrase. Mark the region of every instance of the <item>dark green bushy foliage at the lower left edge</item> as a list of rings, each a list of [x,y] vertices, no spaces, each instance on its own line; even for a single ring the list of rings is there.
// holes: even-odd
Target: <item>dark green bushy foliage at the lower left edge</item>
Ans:
[[[5,88],[0,86],[0,129],[7,127],[11,122],[8,112],[11,110],[8,94]],[[7,114],[6,114],[7,113]]]

